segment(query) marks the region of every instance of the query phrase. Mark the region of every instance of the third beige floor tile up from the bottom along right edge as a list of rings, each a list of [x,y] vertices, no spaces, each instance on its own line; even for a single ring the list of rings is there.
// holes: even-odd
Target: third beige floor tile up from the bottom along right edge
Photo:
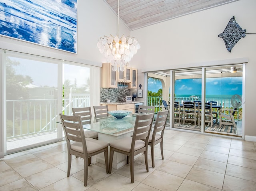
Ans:
[[[242,166],[242,167],[256,169],[256,159],[253,160],[253,159],[247,159],[247,158],[242,158],[237,156],[229,156],[228,163]]]

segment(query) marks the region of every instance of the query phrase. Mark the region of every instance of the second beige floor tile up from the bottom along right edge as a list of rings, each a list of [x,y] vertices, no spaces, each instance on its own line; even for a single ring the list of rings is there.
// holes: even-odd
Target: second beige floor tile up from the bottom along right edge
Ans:
[[[227,170],[226,170],[226,175],[230,175],[230,176],[234,176],[237,178],[242,178],[242,179],[256,182],[256,170],[255,169],[250,169],[250,168],[246,168],[246,167],[242,167],[242,166],[228,164]]]

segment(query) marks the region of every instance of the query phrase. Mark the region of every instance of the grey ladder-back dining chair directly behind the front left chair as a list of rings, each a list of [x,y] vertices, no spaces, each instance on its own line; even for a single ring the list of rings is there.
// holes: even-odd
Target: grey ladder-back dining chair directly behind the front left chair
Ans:
[[[90,124],[92,120],[92,112],[91,107],[83,107],[83,108],[72,108],[72,112],[74,116],[81,116],[82,124]],[[92,130],[84,129],[85,138],[93,138],[98,139],[98,132]]]

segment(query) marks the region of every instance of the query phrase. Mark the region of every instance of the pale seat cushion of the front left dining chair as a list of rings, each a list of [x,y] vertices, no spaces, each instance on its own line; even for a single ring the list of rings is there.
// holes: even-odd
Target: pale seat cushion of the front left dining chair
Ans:
[[[86,138],[87,153],[93,153],[108,146],[108,143],[92,138]],[[71,149],[77,152],[83,153],[82,143],[74,142],[71,144]]]

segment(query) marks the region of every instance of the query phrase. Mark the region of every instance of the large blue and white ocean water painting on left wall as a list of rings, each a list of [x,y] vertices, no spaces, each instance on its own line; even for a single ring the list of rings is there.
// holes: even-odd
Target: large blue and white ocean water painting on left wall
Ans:
[[[76,53],[77,0],[4,0],[0,35]]]

